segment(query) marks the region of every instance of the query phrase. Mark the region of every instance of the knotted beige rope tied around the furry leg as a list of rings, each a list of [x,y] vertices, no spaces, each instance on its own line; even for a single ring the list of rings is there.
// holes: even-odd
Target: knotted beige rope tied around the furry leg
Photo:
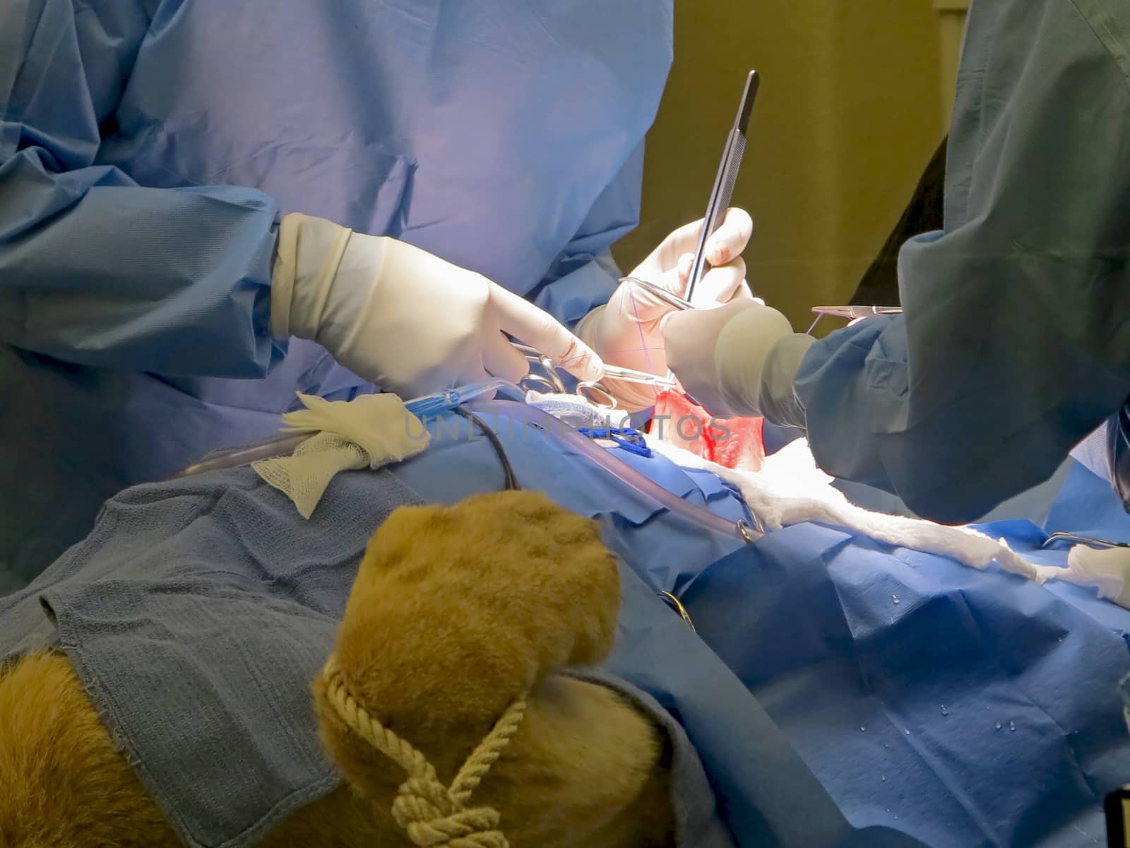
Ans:
[[[322,669],[327,698],[355,734],[408,772],[392,802],[392,819],[420,848],[510,848],[492,807],[469,807],[471,794],[490,771],[525,716],[525,695],[515,700],[459,769],[450,787],[440,782],[423,753],[368,715],[346,685],[337,659]]]

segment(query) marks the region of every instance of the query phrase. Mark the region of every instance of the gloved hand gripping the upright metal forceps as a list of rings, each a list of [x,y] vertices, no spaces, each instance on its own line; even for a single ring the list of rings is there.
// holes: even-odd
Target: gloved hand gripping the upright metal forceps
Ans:
[[[696,220],[668,235],[629,277],[640,277],[683,296],[687,289],[694,251],[703,222]],[[694,303],[712,306],[732,300],[750,300],[746,263],[741,251],[754,232],[754,222],[742,209],[728,209],[721,226],[706,242],[706,261],[712,266],[695,286]],[[667,374],[661,325],[675,310],[632,283],[621,283],[605,306],[598,306],[577,325],[576,332],[610,365],[621,365]],[[631,410],[655,403],[655,390],[638,383],[606,380],[621,405]]]

